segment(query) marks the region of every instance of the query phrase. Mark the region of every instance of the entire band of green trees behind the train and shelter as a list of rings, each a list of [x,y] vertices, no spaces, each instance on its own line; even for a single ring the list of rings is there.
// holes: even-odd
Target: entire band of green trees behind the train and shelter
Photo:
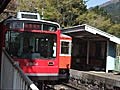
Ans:
[[[89,24],[120,37],[120,25],[111,21],[104,8],[97,6],[87,10],[83,0],[12,0],[7,9],[16,12],[37,11],[44,19],[56,21],[62,27]],[[8,15],[1,14],[2,18]]]

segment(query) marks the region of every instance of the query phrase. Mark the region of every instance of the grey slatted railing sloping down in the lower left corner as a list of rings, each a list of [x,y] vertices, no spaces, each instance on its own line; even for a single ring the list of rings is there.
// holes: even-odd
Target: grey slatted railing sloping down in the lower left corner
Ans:
[[[0,90],[39,90],[3,49]]]

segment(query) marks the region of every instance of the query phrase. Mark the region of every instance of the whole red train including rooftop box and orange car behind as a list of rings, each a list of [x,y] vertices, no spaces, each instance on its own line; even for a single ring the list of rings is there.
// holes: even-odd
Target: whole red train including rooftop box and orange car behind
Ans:
[[[1,41],[33,80],[69,75],[71,38],[61,35],[58,23],[41,20],[38,13],[18,12],[1,23]]]

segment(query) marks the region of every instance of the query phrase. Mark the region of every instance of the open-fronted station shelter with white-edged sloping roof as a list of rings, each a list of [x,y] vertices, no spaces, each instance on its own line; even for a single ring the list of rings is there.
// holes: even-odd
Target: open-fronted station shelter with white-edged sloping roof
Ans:
[[[62,33],[72,37],[72,69],[104,72],[115,69],[120,38],[87,24],[63,29]]]

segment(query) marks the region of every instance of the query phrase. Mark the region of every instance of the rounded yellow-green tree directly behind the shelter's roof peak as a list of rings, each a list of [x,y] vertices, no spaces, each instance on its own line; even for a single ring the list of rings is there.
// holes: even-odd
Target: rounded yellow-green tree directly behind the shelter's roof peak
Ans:
[[[79,24],[89,24],[106,32],[112,25],[109,15],[98,7],[88,10],[83,15],[80,15],[77,18],[77,22]]]

